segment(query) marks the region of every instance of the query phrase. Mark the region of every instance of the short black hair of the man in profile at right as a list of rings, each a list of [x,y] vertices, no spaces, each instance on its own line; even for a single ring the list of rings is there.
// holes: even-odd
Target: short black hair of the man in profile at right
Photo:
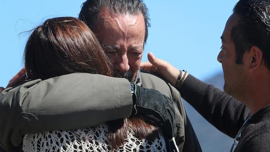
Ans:
[[[243,55],[255,45],[261,49],[264,64],[270,70],[270,1],[240,0],[233,13],[239,17],[231,30],[236,63],[243,64]]]

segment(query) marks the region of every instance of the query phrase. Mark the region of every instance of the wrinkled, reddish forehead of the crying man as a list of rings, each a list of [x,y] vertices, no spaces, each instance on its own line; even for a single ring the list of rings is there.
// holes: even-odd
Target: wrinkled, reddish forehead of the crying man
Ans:
[[[95,33],[101,41],[109,37],[137,39],[144,41],[145,21],[139,14],[115,14],[108,8],[102,8],[94,24]]]

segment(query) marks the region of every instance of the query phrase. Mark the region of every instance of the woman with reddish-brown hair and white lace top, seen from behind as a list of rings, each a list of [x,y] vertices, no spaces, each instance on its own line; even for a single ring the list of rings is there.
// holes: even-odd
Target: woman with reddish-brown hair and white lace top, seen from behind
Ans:
[[[94,33],[71,17],[52,18],[34,29],[25,47],[28,79],[83,72],[114,76]],[[99,126],[26,134],[26,151],[166,151],[159,125],[136,116]]]

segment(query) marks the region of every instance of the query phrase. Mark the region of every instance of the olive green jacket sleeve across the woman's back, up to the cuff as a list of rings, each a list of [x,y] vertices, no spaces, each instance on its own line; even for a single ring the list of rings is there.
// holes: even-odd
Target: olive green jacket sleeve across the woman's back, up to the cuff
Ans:
[[[98,74],[73,73],[43,81],[33,80],[15,88],[7,88],[0,94],[0,118],[13,115],[13,120],[20,120],[0,121],[2,124],[10,124],[5,125],[12,128],[10,134],[19,136],[40,131],[95,126],[109,120],[129,117],[131,109],[129,81]],[[27,114],[36,119],[29,119]],[[40,125],[35,126],[37,123],[31,121],[38,121]],[[28,127],[21,128],[20,124],[12,125],[12,122]],[[2,135],[7,133],[4,128],[0,129],[0,138],[3,140]]]

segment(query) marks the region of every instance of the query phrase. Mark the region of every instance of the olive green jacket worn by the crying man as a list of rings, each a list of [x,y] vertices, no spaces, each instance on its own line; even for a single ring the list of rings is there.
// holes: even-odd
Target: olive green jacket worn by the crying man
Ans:
[[[151,74],[141,73],[141,79],[145,88],[154,88],[174,101],[179,150],[200,149],[179,92]],[[20,151],[25,134],[95,126],[129,117],[131,109],[130,84],[124,78],[73,73],[28,81],[0,94],[0,146]]]

